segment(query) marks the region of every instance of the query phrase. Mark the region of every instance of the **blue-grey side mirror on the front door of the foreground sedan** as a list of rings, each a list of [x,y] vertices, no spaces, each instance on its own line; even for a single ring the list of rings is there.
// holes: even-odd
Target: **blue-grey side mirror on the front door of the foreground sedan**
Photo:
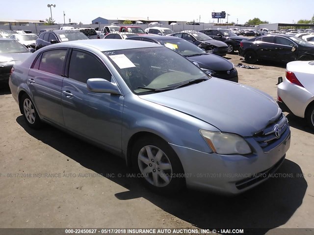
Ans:
[[[112,79],[111,79],[112,80]],[[109,82],[104,78],[89,78],[87,80],[87,89],[96,93],[108,93],[122,95],[116,83]]]

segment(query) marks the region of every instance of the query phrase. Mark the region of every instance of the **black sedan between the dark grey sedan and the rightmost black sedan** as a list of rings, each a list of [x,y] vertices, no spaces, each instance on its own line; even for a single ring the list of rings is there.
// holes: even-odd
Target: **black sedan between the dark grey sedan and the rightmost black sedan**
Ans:
[[[235,50],[240,48],[240,42],[242,40],[247,40],[243,36],[237,36],[235,33],[231,32],[229,29],[204,29],[200,32],[205,33],[209,37],[225,42],[228,45],[228,53],[233,53]]]

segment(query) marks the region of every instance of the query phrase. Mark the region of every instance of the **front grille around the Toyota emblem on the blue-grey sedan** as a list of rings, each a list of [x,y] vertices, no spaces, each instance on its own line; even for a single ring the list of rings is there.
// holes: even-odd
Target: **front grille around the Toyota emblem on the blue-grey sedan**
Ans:
[[[275,128],[277,126],[281,130],[281,135],[279,138],[276,137],[275,134]],[[269,152],[273,148],[280,145],[283,141],[283,138],[286,139],[286,136],[288,136],[289,132],[290,128],[288,119],[285,117],[285,115],[281,114],[281,116],[277,118],[275,122],[266,126],[265,129],[254,135],[253,138],[259,143],[264,152]]]

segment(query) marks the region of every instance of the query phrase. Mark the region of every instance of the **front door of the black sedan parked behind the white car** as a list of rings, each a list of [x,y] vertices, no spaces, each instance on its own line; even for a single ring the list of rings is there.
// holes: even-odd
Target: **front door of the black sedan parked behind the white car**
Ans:
[[[296,44],[285,37],[275,36],[275,50],[276,58],[280,61],[294,61],[297,59],[297,51],[292,51],[292,47],[296,47]]]

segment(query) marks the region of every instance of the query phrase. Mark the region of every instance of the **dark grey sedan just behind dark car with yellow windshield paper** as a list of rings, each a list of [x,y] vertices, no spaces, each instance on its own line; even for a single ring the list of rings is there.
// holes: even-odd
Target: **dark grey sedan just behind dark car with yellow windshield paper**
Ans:
[[[184,40],[189,41],[190,43],[193,43],[196,46],[216,55],[224,56],[228,51],[228,46],[224,42],[213,40],[206,34],[194,30],[185,30],[180,33],[170,34],[170,36],[183,38]]]

